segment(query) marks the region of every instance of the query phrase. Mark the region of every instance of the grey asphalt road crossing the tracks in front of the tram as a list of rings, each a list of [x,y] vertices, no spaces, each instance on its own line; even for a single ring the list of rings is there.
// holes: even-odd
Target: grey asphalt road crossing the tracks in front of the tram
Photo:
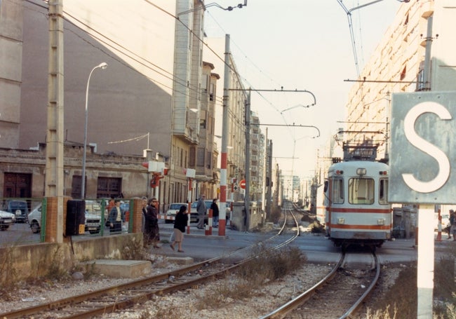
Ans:
[[[185,234],[183,243],[185,253],[178,253],[173,252],[167,242],[172,231],[173,224],[160,222],[160,235],[163,243],[161,243],[160,249],[151,248],[154,253],[175,257],[193,257],[195,260],[210,259],[220,254],[247,247],[252,243],[259,243],[274,235],[274,231],[269,233],[251,233],[234,231],[229,228],[225,230],[225,236],[218,236],[218,229],[213,229],[212,235],[206,235],[206,231],[196,229],[196,224],[192,223],[190,233]],[[109,233],[109,231],[106,233]],[[90,234],[86,232],[86,236],[90,236]],[[271,243],[267,243],[267,245],[279,243],[284,240],[283,238],[290,236],[292,235],[284,234],[278,236]],[[452,240],[446,240],[447,237],[446,234],[442,234],[442,240],[436,240],[434,243],[436,258],[440,256],[440,252],[443,252],[446,246],[456,245]],[[0,231],[0,246],[29,245],[34,243],[39,243],[39,233],[32,233],[29,224],[13,224],[6,231]],[[340,247],[335,247],[323,234],[314,234],[306,231],[303,231],[301,236],[290,245],[299,247],[306,254],[309,262],[314,263],[335,262],[341,252]],[[382,264],[389,262],[415,262],[417,260],[415,238],[401,238],[387,241],[382,247],[377,248],[376,252]]]

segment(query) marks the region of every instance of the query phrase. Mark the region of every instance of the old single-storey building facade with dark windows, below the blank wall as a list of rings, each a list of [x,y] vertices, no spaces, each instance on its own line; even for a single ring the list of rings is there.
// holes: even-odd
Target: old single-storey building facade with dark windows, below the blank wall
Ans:
[[[46,144],[39,149],[4,149],[0,148],[0,197],[4,194],[4,172],[25,173],[32,175],[32,197],[44,196],[44,170],[46,166]],[[83,147],[65,144],[64,159],[64,196],[72,196],[73,176],[81,176]],[[98,177],[117,177],[122,179],[122,193],[125,198],[148,196],[150,191],[149,173],[142,166],[148,158],[116,154],[95,154],[88,149],[86,176],[87,198],[97,198]]]

